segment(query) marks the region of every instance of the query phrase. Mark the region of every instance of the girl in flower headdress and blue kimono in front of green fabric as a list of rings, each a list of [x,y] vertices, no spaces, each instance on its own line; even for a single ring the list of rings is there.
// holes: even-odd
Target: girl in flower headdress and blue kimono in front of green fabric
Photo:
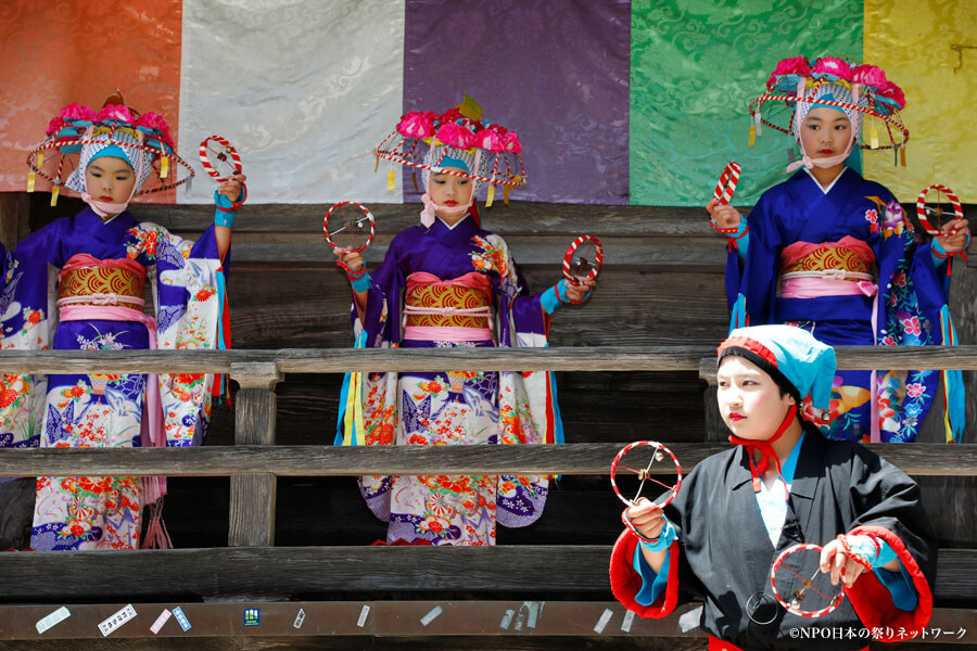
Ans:
[[[824,58],[811,66],[798,56],[779,63],[753,102],[758,126],[788,132],[761,117],[761,108],[779,102],[792,106],[789,132],[801,153],[787,171],[800,169],[767,190],[749,219],[715,200],[707,205],[720,227],[735,230],[726,265],[732,327],[789,323],[829,345],[955,343],[946,267],[969,242],[967,221],[917,242],[896,196],[845,165],[863,119],[871,120],[863,148],[879,149],[879,124],[894,133],[886,149],[904,145],[902,90],[871,65]],[[962,378],[943,373],[947,436],[959,441]],[[841,371],[822,430],[848,441],[913,441],[938,379],[936,371]]]

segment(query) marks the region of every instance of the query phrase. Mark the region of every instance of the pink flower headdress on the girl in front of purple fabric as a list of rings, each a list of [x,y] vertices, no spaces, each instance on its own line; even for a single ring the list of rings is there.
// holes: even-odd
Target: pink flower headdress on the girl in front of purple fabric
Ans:
[[[424,184],[430,173],[442,173],[441,163],[453,159],[466,163],[468,171],[444,171],[488,183],[486,206],[492,205],[495,187],[502,186],[508,203],[509,189],[525,184],[522,143],[516,131],[502,125],[482,120],[482,108],[474,100],[465,101],[439,114],[432,111],[411,111],[401,117],[397,127],[373,150],[377,164],[385,158],[424,170]],[[394,189],[394,170],[388,176],[388,187]]]

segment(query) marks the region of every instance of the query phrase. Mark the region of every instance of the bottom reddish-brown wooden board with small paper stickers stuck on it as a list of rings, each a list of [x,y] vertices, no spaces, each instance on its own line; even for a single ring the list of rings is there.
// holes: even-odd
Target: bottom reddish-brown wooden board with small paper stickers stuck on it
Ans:
[[[50,613],[51,605],[0,607],[0,640],[10,639],[104,639],[94,623],[101,622],[124,603],[72,604],[72,616],[43,634],[34,623]],[[175,617],[158,629],[158,636],[175,639],[201,637],[263,638],[281,636],[301,641],[316,636],[449,636],[499,638],[505,636],[578,638],[703,638],[695,626],[683,630],[680,617],[699,608],[689,603],[661,620],[635,617],[617,601],[257,601],[237,603],[135,603],[137,615],[112,634],[113,639],[149,638],[150,625],[164,610],[179,608],[191,624],[182,630]],[[432,611],[437,616],[426,620]],[[245,609],[258,609],[259,626],[244,626]],[[605,611],[610,611],[598,634],[595,630]],[[301,612],[301,615],[300,615]],[[691,616],[696,616],[694,613]],[[300,626],[295,626],[301,617]],[[977,611],[936,609],[928,628],[954,631],[948,642],[977,642],[977,628],[967,627]],[[969,628],[957,636],[959,627]],[[941,636],[943,637],[943,636]],[[580,639],[584,638],[584,639]],[[194,639],[194,643],[196,639]],[[186,642],[185,642],[186,643]],[[506,647],[508,648],[508,647]]]

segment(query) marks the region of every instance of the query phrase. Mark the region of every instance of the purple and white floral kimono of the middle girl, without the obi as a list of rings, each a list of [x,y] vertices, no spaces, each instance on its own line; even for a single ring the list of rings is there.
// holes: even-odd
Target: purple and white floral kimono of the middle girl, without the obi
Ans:
[[[492,328],[470,328],[472,341],[411,339],[404,328],[405,292],[414,278],[439,286],[482,286]],[[363,315],[354,307],[357,347],[546,346],[549,317],[528,294],[506,242],[471,216],[449,229],[436,220],[391,243],[370,276]],[[485,323],[485,321],[482,321]],[[347,374],[337,444],[506,445],[562,439],[555,385],[547,372]],[[390,523],[388,541],[493,545],[496,522],[525,526],[540,518],[549,477],[365,476],[367,505]]]

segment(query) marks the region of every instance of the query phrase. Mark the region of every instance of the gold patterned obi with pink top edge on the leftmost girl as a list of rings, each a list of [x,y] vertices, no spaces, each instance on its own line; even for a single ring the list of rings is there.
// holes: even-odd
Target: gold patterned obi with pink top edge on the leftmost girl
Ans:
[[[135,260],[73,256],[61,270],[58,306],[99,305],[142,308],[145,267]]]

